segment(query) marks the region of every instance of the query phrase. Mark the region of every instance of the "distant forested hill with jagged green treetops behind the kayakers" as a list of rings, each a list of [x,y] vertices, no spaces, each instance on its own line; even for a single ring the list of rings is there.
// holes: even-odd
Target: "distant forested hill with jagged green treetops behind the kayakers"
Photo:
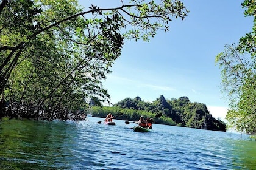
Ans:
[[[117,108],[122,110],[116,110]],[[226,124],[212,117],[205,104],[191,103],[188,97],[166,100],[161,95],[152,103],[145,102],[140,97],[125,98],[114,104],[112,110],[105,108],[105,112],[108,111],[113,114],[123,112],[122,118],[132,121],[137,121],[140,115],[152,117],[152,114],[162,113],[162,117],[155,118],[155,123],[226,132]]]

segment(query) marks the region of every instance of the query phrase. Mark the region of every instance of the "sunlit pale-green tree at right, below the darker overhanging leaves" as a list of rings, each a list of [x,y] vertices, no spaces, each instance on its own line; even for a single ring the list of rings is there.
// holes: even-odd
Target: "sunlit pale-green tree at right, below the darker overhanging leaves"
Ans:
[[[226,46],[216,56],[222,68],[222,93],[227,94],[229,110],[226,119],[237,131],[255,134],[256,126],[256,69],[254,61],[241,54],[237,47]]]

